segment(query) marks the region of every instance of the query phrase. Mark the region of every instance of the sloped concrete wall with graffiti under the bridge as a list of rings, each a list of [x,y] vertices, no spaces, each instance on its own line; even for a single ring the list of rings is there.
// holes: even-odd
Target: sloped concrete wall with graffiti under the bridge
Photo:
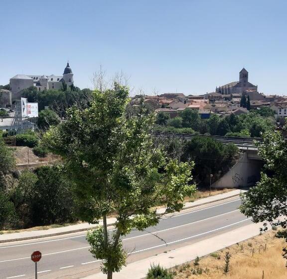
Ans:
[[[240,188],[252,186],[260,179],[262,164],[260,160],[249,159],[247,152],[245,152],[238,162],[211,187]]]

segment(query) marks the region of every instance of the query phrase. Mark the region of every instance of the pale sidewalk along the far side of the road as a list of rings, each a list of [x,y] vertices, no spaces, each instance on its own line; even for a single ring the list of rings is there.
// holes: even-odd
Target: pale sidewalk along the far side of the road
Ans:
[[[245,190],[236,189],[236,190],[233,190],[227,193],[198,199],[194,202],[187,202],[185,203],[184,209],[188,209],[188,208],[205,205],[205,204],[209,204],[209,203],[216,202],[216,201],[221,201],[221,200],[228,199],[231,197],[235,197],[235,196],[238,196],[242,191],[245,191]],[[163,212],[164,212],[164,208],[160,208],[157,210],[157,213],[159,214]],[[108,218],[107,220],[109,226],[114,225],[115,221],[116,221],[116,218]],[[100,221],[99,225],[102,225],[102,221]],[[71,226],[48,229],[48,230],[37,230],[37,231],[35,230],[35,231],[28,231],[28,232],[26,231],[26,232],[18,232],[18,233],[11,233],[11,234],[3,234],[3,235],[0,235],[0,243],[77,233],[77,232],[86,231],[86,230],[95,228],[99,225],[81,223],[77,225],[71,225]]]

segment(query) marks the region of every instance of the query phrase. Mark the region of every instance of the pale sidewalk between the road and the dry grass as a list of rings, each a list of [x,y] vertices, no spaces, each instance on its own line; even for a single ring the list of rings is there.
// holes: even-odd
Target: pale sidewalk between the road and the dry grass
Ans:
[[[218,251],[235,243],[259,235],[262,224],[250,224],[233,231],[214,236],[197,243],[162,253],[124,267],[119,273],[114,273],[114,279],[144,279],[151,264],[160,264],[163,268],[172,268]],[[83,279],[106,279],[107,275],[97,273]]]

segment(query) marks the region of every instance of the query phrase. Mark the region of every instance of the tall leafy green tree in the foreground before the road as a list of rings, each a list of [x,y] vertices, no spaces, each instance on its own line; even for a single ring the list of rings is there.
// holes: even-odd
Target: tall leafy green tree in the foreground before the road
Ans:
[[[93,224],[103,219],[87,240],[108,279],[126,263],[121,236],[156,225],[156,204],[164,204],[165,212],[179,211],[184,196],[195,191],[189,184],[193,164],[167,159],[150,136],[154,115],[146,115],[140,104],[139,113],[126,118],[128,96],[129,90],[117,83],[96,90],[89,108],[69,109],[67,120],[43,139],[66,161],[80,218]],[[107,227],[111,213],[117,216],[113,233]]]

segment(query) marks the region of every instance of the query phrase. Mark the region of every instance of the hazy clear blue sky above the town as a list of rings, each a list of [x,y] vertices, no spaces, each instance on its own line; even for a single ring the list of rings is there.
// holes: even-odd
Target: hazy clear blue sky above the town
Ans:
[[[287,93],[286,0],[0,0],[0,84],[63,73],[80,88],[100,65],[135,92],[205,93],[243,66],[260,92]]]

